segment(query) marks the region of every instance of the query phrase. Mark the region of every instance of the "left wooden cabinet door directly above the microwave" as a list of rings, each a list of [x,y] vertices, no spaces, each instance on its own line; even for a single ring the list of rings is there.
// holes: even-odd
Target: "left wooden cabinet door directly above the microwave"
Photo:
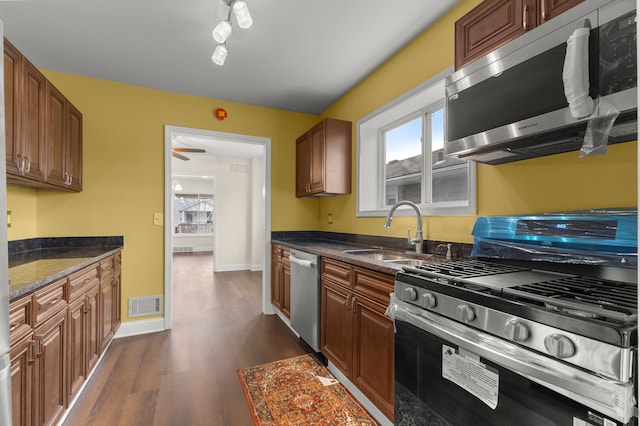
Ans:
[[[485,0],[455,23],[455,69],[486,55],[537,24],[536,0]]]

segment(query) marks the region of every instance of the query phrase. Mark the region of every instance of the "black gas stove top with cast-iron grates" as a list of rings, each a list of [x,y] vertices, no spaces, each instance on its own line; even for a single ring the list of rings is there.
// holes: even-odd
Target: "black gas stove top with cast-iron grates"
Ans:
[[[635,282],[543,270],[531,263],[527,268],[472,259],[407,266],[396,281],[616,346],[637,345]],[[400,300],[430,309],[401,287]]]

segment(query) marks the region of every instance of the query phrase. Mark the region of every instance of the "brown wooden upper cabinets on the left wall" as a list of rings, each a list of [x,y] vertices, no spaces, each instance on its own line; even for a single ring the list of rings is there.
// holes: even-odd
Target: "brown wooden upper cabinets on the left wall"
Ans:
[[[82,114],[4,40],[7,182],[82,190]]]

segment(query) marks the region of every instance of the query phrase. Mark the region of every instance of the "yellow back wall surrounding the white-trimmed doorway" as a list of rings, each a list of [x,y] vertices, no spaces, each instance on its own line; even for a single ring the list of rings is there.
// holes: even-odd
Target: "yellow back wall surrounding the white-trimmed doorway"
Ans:
[[[123,235],[123,302],[163,293],[164,125],[271,139],[273,230],[317,229],[318,200],[295,198],[295,139],[317,116],[45,71],[83,113],[80,193],[9,187],[9,240]],[[229,118],[213,111],[224,107]],[[286,207],[284,207],[286,206]],[[123,309],[126,314],[126,309]]]

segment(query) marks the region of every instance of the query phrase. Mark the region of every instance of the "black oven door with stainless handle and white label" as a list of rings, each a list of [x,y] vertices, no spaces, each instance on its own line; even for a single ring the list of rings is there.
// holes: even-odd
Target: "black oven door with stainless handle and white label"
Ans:
[[[633,385],[392,300],[399,425],[637,424]]]

